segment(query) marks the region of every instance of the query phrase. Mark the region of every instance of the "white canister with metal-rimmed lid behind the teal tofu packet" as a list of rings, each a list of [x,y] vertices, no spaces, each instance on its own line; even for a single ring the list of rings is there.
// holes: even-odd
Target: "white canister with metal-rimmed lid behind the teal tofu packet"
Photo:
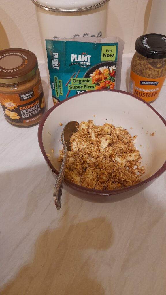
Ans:
[[[45,39],[105,37],[109,0],[32,0],[47,61]]]

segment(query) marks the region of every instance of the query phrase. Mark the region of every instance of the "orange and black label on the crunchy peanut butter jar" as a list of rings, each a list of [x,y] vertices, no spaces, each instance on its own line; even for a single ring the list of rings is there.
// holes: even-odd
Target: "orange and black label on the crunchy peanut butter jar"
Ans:
[[[7,121],[30,126],[41,120],[45,99],[41,80],[32,88],[17,94],[0,93],[0,102]]]

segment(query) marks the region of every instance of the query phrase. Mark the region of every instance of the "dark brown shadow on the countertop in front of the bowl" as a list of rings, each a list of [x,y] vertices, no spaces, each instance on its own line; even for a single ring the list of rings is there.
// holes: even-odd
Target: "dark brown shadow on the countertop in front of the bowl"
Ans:
[[[111,224],[103,217],[69,227],[66,219],[62,226],[38,237],[33,262],[20,269],[1,295],[103,295],[97,276],[94,279],[94,269],[91,275],[94,259],[86,249],[95,249],[100,255],[100,250],[110,247],[112,239]]]

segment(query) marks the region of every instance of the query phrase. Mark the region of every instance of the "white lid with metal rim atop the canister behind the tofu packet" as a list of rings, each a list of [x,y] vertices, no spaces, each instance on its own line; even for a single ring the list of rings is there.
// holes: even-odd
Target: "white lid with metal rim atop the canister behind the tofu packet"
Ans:
[[[109,0],[32,0],[32,2],[43,9],[56,12],[82,12],[96,9]]]

